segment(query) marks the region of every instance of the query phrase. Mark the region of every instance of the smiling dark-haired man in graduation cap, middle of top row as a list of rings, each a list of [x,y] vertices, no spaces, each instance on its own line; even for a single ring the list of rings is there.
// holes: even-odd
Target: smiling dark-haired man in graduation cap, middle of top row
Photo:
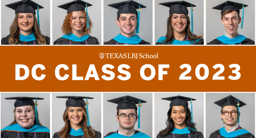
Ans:
[[[104,42],[104,45],[150,45],[137,35],[139,33],[140,8],[146,8],[146,6],[133,0],[108,6],[118,9],[116,23],[121,31],[115,38]],[[139,12],[136,9],[139,9]]]

